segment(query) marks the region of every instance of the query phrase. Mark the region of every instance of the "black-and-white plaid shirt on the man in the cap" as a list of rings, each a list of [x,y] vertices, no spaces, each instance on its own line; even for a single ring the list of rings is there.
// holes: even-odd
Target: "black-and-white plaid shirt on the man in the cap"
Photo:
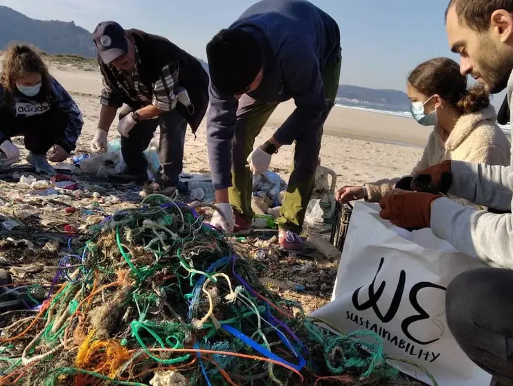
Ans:
[[[153,84],[153,89],[150,91],[145,84],[141,82],[141,77],[138,72],[138,65],[141,64],[141,57],[137,46],[136,60],[134,70],[131,75],[127,75],[122,70],[111,66],[116,74],[116,81],[118,87],[134,102],[141,102],[144,106],[153,104],[161,111],[172,111],[177,107],[178,99],[174,95],[174,88],[178,85],[179,63],[175,60],[172,63],[163,66],[159,79]],[[100,104],[111,107],[122,107],[123,101],[121,95],[116,90],[109,87],[105,78],[103,81],[102,96]]]

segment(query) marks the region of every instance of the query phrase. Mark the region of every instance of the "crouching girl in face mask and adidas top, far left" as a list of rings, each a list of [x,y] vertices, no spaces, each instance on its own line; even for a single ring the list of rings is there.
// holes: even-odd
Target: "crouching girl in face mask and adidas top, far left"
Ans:
[[[51,77],[35,50],[10,46],[3,55],[0,77],[0,167],[6,169],[19,160],[11,138],[24,136],[28,162],[38,173],[55,174],[48,159],[66,160],[83,124],[77,104]]]

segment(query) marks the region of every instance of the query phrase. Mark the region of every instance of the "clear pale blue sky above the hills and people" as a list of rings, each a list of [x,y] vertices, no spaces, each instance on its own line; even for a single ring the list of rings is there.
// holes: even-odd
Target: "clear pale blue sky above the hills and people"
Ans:
[[[339,24],[341,84],[406,90],[417,64],[450,52],[444,26],[449,0],[311,0]],[[206,43],[255,0],[0,0],[33,19],[75,21],[92,31],[99,21],[162,35],[206,59]],[[502,94],[501,94],[502,95]],[[497,95],[496,99],[501,97]],[[497,101],[494,101],[497,104]]]

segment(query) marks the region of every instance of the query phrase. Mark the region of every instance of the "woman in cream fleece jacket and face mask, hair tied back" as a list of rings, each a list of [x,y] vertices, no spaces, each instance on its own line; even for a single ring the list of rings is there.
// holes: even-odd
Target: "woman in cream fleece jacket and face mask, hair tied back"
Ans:
[[[411,176],[449,159],[510,165],[510,143],[496,124],[488,94],[480,87],[467,89],[467,77],[461,75],[458,63],[444,57],[428,60],[411,72],[406,88],[413,118],[420,125],[434,126]],[[408,189],[411,177],[346,186],[336,192],[336,199],[378,202],[398,182],[402,189]],[[469,205],[462,199],[451,199]]]

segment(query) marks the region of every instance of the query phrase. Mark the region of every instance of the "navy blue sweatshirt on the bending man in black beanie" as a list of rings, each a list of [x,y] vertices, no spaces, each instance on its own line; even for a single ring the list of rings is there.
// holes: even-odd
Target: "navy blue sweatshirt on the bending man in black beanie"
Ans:
[[[262,83],[249,96],[263,102],[291,98],[296,110],[274,138],[290,145],[308,129],[321,129],[328,108],[321,71],[340,51],[336,21],[305,0],[262,0],[248,8],[229,28],[242,28],[258,39],[263,53]],[[216,189],[231,186],[231,141],[238,101],[209,86],[208,156]]]

